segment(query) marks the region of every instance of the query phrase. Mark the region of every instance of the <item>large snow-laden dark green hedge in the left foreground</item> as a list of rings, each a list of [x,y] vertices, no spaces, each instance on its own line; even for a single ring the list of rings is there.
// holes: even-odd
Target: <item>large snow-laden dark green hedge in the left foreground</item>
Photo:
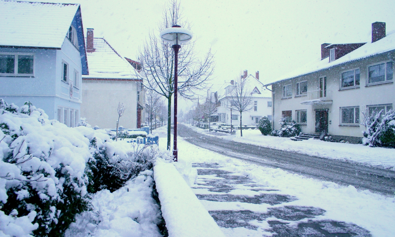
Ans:
[[[0,99],[0,128],[0,236],[61,236],[91,208],[89,192],[114,191],[170,156],[87,126],[68,128],[28,102]]]

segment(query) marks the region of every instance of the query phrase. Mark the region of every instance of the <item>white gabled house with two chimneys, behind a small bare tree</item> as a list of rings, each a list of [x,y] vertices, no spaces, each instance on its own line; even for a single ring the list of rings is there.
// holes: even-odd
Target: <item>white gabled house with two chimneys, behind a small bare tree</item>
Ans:
[[[271,91],[265,87],[259,81],[259,71],[256,72],[256,76],[248,75],[247,70],[244,71],[244,80],[246,80],[246,88],[251,90],[252,96],[252,109],[245,111],[242,114],[242,123],[247,125],[257,125],[262,117],[268,117],[271,120]],[[216,115],[218,115],[219,122],[226,124],[240,124],[240,113],[232,110],[230,111],[229,99],[231,98],[231,91],[235,88],[235,82],[233,80],[230,83],[224,83],[218,90],[217,94],[219,97],[220,106],[217,109]]]

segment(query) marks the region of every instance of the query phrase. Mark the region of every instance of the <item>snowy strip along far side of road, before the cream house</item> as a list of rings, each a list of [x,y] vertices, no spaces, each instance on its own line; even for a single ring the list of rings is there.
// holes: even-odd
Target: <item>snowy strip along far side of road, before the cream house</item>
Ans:
[[[365,166],[376,166],[395,171],[395,149],[368,147],[362,144],[327,142],[318,139],[292,141],[288,137],[264,136],[259,130],[250,129],[243,130],[243,137],[240,137],[240,130],[236,131],[236,135],[224,135],[225,133],[222,132],[209,132],[208,129],[203,130],[188,124],[185,125],[194,129],[196,132],[215,136],[220,139],[228,139],[240,143],[248,143],[310,156],[358,162]]]

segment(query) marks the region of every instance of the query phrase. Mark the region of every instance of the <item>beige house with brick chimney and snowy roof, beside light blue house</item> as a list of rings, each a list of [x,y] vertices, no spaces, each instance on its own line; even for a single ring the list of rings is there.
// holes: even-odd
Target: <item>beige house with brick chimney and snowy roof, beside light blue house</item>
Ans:
[[[82,75],[84,100],[81,116],[86,117],[92,126],[115,128],[120,102],[126,108],[120,125],[137,128],[140,125],[137,123],[137,111],[141,113],[144,102],[144,95],[140,96],[138,72],[104,38],[94,38],[93,32],[94,29],[87,29],[89,73]]]

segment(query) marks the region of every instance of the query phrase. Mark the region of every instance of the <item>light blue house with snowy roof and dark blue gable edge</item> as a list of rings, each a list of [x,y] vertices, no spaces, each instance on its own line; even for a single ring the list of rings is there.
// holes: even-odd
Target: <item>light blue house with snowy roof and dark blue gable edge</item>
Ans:
[[[0,97],[74,127],[88,74],[79,4],[0,0]]]

